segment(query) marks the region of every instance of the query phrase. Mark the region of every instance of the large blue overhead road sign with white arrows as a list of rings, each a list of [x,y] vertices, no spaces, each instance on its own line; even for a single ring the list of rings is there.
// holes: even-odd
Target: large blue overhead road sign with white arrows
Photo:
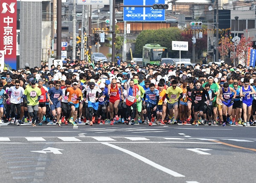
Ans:
[[[164,4],[165,0],[124,0],[125,5]],[[164,9],[124,7],[124,21],[165,21]]]

